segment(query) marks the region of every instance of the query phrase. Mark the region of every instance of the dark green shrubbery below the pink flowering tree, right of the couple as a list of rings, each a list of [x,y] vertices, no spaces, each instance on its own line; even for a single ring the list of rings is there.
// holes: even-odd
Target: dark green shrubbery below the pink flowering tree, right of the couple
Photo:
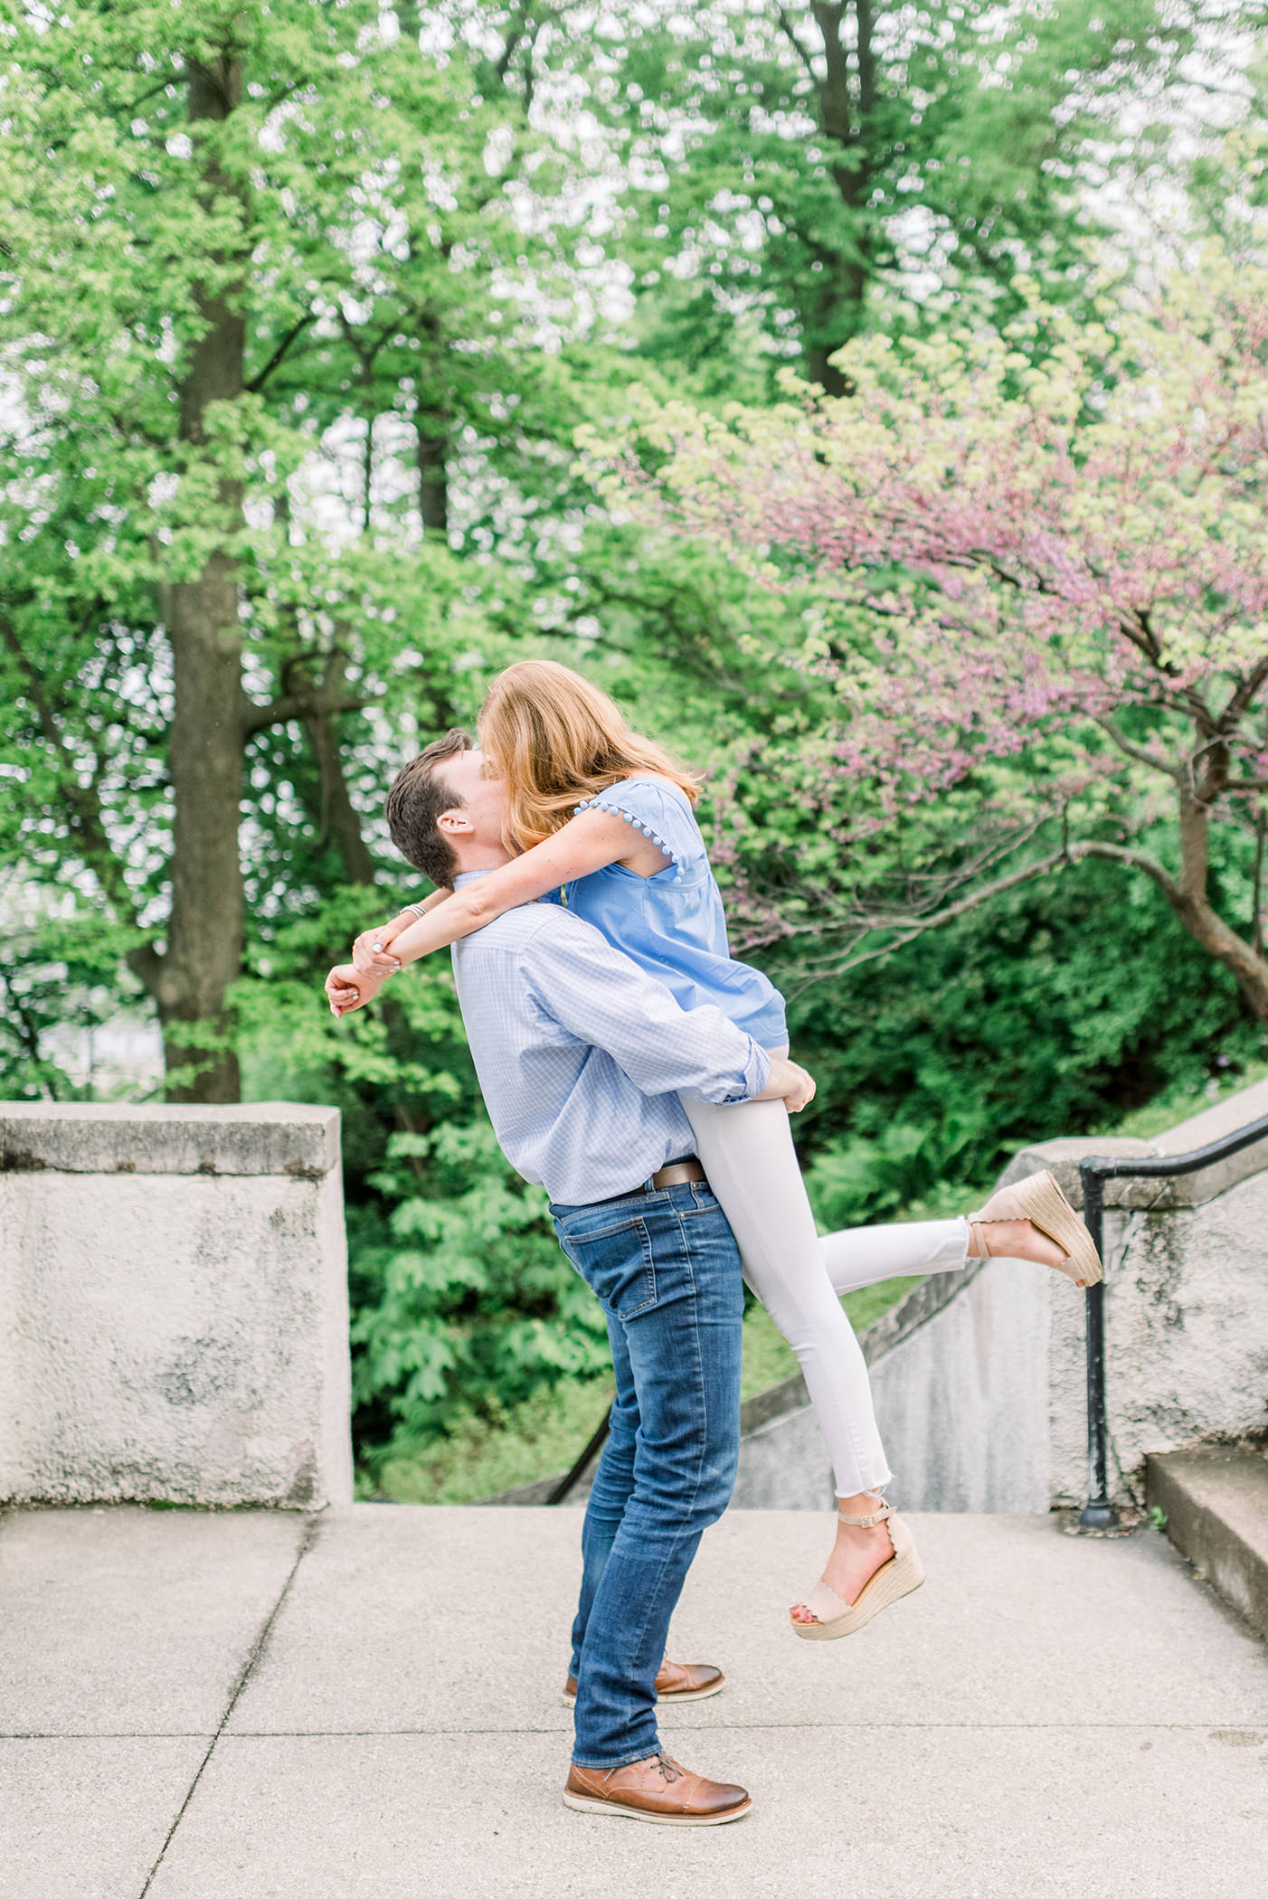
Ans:
[[[1112,1132],[1152,1098],[1181,1120],[1264,1050],[1154,885],[1107,864],[1021,885],[805,989],[790,1022],[820,1081],[799,1139],[830,1227],[945,1204],[1023,1143]]]

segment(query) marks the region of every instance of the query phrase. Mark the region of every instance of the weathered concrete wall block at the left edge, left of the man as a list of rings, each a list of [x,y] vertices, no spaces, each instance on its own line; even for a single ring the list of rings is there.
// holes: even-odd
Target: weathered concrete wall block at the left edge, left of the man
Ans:
[[[351,1496],[340,1117],[0,1103],[0,1502]]]

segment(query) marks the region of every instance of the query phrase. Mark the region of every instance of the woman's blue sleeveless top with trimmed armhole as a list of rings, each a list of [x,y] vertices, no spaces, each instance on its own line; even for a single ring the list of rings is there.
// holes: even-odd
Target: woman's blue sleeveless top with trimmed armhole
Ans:
[[[568,885],[568,908],[670,989],[683,1008],[714,1003],[761,1048],[788,1043],[784,997],[727,946],[721,893],[691,803],[657,779],[623,779],[577,811],[613,811],[661,845],[664,870],[607,864]]]

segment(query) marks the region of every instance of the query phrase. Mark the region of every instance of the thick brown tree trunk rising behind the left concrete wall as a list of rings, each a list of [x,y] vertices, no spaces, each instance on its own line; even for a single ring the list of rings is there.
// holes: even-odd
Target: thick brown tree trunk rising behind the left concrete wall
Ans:
[[[241,61],[220,57],[190,74],[190,120],[224,122],[241,101]],[[207,197],[239,196],[213,160]],[[220,260],[216,260],[220,262]],[[241,287],[197,292],[205,332],[180,387],[180,439],[207,441],[207,404],[243,393]],[[222,532],[243,520],[241,484],[218,490]],[[243,874],[237,853],[243,782],[241,636],[237,572],[228,553],[197,579],[163,589],[173,651],[175,712],[169,771],[175,801],[171,919],[158,984],[169,1101],[237,1101],[237,1056],[228,1046],[224,995],[241,972]]]

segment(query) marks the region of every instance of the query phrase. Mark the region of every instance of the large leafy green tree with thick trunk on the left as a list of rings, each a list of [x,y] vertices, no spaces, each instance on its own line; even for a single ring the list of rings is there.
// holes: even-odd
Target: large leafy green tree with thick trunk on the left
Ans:
[[[342,875],[368,879],[347,716],[399,716],[406,689],[452,710],[471,632],[452,431],[514,406],[514,349],[494,348],[526,245],[505,141],[488,161],[505,114],[370,0],[0,23],[17,841],[38,875],[85,872],[131,932],[169,1096],[232,1100],[245,902],[283,896],[243,874],[243,809],[273,836],[317,817]],[[412,496],[376,492],[383,416],[414,435]],[[311,492],[323,469],[332,498]]]

